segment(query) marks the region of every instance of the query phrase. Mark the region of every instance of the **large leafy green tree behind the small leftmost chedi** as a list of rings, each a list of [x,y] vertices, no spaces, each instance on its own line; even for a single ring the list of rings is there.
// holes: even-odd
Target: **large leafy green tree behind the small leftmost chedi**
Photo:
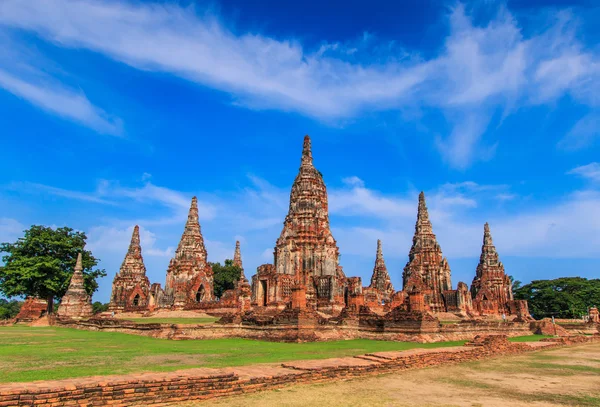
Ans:
[[[67,288],[81,252],[85,288],[92,295],[98,289],[96,279],[106,272],[93,268],[98,264],[92,252],[84,250],[87,236],[71,228],[52,229],[32,226],[15,243],[0,244],[4,266],[0,267],[0,293],[8,298],[31,295],[48,301],[48,313],[54,298],[61,298]]]

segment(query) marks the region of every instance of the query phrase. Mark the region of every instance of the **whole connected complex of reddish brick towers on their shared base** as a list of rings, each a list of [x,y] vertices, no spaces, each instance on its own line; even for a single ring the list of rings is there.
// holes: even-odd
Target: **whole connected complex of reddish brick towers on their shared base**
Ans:
[[[360,277],[347,277],[339,259],[329,223],[327,188],[314,166],[310,137],[305,136],[272,263],[259,266],[248,281],[237,241],[233,264],[241,270],[240,279],[233,289],[215,298],[212,267],[194,197],[181,241],[166,271],[165,288],[158,283],[150,285],[146,277],[136,226],[113,282],[110,309],[197,309],[226,315],[223,323],[244,326],[350,324],[356,329],[404,333],[433,332],[438,329],[436,321],[441,315],[464,320],[487,316],[511,316],[522,321],[530,318],[527,303],[512,297],[511,282],[487,223],[471,288],[463,282],[453,288],[450,265],[433,232],[423,192],[419,194],[415,233],[402,273],[402,290],[395,291],[392,285],[381,240],[377,241],[368,286],[362,286]]]

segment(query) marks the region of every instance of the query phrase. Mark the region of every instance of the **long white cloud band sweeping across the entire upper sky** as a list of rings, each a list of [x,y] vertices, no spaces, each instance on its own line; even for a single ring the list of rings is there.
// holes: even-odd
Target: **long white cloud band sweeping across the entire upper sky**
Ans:
[[[235,103],[251,108],[297,111],[325,121],[365,110],[442,109],[452,129],[438,141],[439,150],[457,168],[493,155],[495,143],[486,146],[481,138],[491,131],[498,109],[506,116],[520,105],[551,103],[565,93],[596,103],[598,57],[578,41],[574,20],[558,13],[545,31],[525,37],[505,8],[475,25],[459,4],[449,15],[450,34],[441,51],[424,60],[372,35],[357,45],[322,44],[315,50],[289,39],[238,35],[193,7],[100,0],[0,3],[0,24],[228,92]],[[363,50],[380,55],[372,63],[349,62],[348,55],[355,58]]]

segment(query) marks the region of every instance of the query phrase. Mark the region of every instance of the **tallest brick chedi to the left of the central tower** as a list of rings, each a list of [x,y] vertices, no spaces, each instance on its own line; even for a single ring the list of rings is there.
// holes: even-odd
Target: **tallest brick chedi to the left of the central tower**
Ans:
[[[213,272],[207,261],[204,238],[198,220],[198,200],[192,205],[175,256],[167,269],[163,305],[193,307],[213,299]]]

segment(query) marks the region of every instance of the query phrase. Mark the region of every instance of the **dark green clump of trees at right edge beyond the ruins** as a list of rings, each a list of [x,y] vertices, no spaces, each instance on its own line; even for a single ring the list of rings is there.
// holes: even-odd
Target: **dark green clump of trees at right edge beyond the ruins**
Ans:
[[[514,296],[527,300],[529,312],[536,319],[581,318],[588,308],[600,306],[600,279],[563,277],[535,280],[516,289]]]

